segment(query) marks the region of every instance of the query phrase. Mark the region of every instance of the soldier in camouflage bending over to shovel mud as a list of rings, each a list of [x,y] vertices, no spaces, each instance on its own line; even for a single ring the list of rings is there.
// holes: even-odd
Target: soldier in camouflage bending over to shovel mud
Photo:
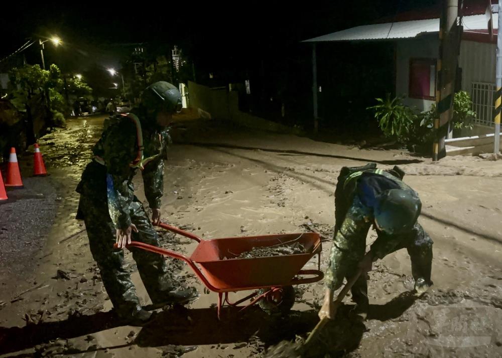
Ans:
[[[319,317],[333,318],[333,292],[362,268],[352,286],[356,313],[365,318],[369,308],[366,272],[377,259],[402,248],[411,258],[417,294],[431,281],[432,240],[417,223],[422,204],[418,194],[403,183],[399,167],[385,171],[375,163],[343,167],[335,190],[335,233],[325,275],[326,292]],[[365,255],[366,236],[373,225],[378,239]]]

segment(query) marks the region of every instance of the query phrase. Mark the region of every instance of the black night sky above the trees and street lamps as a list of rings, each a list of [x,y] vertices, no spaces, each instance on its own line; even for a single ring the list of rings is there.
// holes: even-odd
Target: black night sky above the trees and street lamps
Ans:
[[[11,4],[0,24],[2,34],[8,34],[0,57],[15,51],[27,37],[58,34],[65,46],[54,49],[48,43],[44,54],[48,62],[64,61],[70,67],[67,71],[78,71],[75,67],[93,62],[117,66],[124,51],[120,44],[143,42],[178,44],[209,66],[229,57],[236,62],[264,54],[280,58],[296,51],[301,40],[426,7],[437,0],[318,1],[295,6],[291,1],[173,3],[146,8],[133,2]],[[32,48],[27,53],[29,62],[37,61],[37,46]]]

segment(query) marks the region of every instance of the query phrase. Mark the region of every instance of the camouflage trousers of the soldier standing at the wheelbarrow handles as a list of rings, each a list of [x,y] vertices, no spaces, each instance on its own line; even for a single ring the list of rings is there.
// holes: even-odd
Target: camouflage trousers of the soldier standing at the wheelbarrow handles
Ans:
[[[106,197],[103,199],[91,200],[81,195],[77,217],[85,222],[92,257],[101,271],[103,285],[113,307],[119,315],[129,316],[141,308],[140,301],[131,274],[123,268],[123,250],[113,248],[116,231],[108,213]],[[130,215],[139,231],[132,233],[132,240],[159,246],[157,232],[136,196],[130,206]],[[152,302],[163,302],[163,292],[173,289],[164,258],[141,249],[132,248],[131,251]]]

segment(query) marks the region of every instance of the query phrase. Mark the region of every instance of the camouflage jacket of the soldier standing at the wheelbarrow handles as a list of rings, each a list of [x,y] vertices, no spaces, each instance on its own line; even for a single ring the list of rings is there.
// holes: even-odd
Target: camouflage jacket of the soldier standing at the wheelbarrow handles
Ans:
[[[158,209],[164,194],[164,159],[170,143],[169,129],[159,128],[146,120],[146,113],[133,110],[140,119],[143,136],[143,157],[148,158],[142,170],[145,196],[152,209]],[[105,120],[101,138],[93,148],[97,161],[106,167],[108,209],[115,228],[131,225],[129,207],[134,198],[132,183],[138,166],[138,126],[127,116],[116,115]]]

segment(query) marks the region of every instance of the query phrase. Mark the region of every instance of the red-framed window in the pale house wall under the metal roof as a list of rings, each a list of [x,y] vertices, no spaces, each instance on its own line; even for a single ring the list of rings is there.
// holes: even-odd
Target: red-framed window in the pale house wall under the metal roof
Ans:
[[[436,59],[410,59],[410,98],[436,99]]]

